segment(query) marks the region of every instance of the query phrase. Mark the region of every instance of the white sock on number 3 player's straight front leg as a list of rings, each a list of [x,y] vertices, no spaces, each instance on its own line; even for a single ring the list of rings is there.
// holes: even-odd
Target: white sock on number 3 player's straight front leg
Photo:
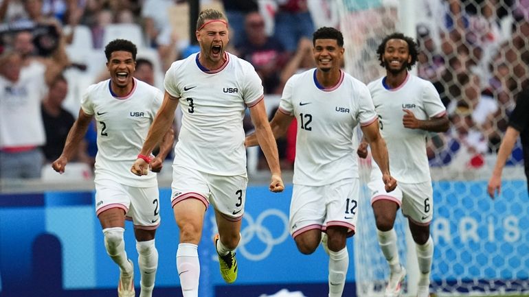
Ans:
[[[198,246],[180,243],[177,250],[177,271],[183,297],[199,297],[200,263]]]

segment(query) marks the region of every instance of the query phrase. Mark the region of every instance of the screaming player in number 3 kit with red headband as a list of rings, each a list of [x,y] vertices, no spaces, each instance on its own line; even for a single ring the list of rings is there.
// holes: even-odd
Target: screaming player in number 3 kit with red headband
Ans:
[[[218,234],[214,243],[227,283],[237,277],[235,248],[240,242],[246,188],[243,117],[249,108],[259,143],[271,169],[269,189],[283,191],[278,150],[254,67],[225,51],[227,19],[204,10],[196,21],[200,52],[173,62],[166,73],[164,103],[131,171],[147,171],[148,154],[170,127],[178,104],[183,110],[172,174],[172,209],[180,230],[177,270],[183,297],[199,296],[199,254],[204,214],[214,207]]]

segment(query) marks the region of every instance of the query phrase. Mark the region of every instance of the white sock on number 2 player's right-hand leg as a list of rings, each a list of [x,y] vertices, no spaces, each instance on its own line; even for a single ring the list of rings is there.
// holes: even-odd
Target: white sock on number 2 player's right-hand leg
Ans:
[[[155,239],[136,241],[136,250],[138,251],[139,273],[142,275],[140,282],[142,290],[139,292],[139,297],[152,297],[158,268],[158,250],[156,250]]]

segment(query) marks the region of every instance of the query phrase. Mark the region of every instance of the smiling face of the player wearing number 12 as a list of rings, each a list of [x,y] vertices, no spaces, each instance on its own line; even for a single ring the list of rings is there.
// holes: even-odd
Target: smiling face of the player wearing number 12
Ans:
[[[340,47],[335,39],[317,39],[314,44],[313,56],[316,67],[324,72],[339,69],[344,57],[344,47]]]

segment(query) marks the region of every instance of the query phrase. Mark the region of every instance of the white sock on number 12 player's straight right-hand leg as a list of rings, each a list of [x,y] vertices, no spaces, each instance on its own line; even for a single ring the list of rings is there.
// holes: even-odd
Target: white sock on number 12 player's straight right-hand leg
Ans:
[[[349,253],[347,248],[338,252],[329,250],[329,297],[341,297],[346,285]]]

